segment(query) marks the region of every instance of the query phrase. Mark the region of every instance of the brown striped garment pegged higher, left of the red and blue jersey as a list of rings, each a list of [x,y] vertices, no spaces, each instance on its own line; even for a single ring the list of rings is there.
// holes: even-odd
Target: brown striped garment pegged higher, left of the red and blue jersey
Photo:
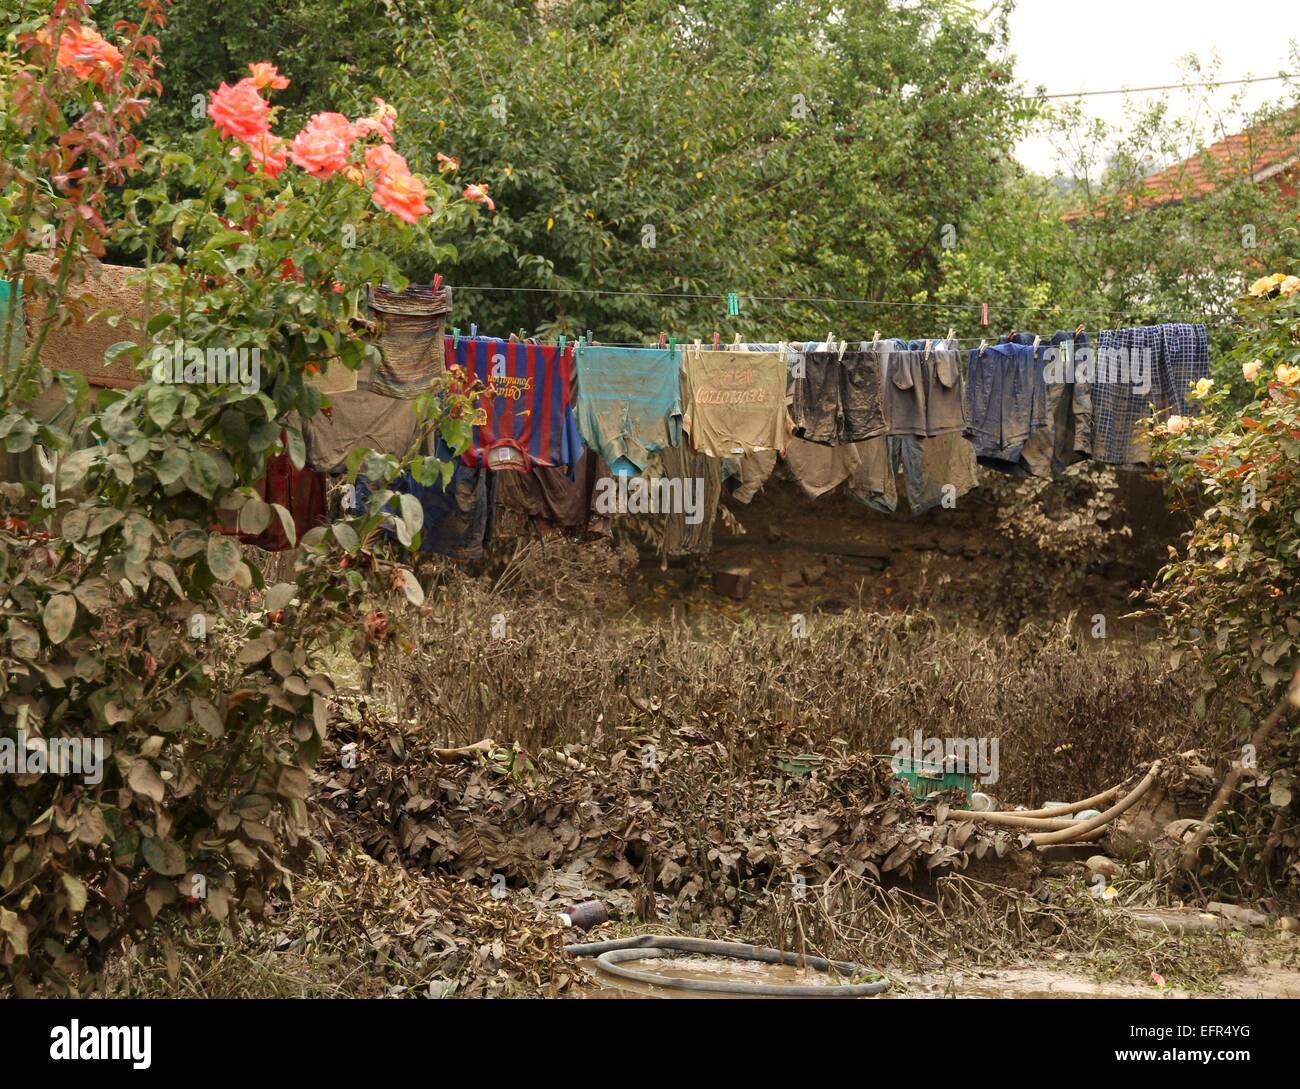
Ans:
[[[369,387],[390,398],[412,399],[433,387],[442,373],[442,334],[451,311],[451,288],[412,283],[404,291],[370,288],[373,343],[380,361]]]

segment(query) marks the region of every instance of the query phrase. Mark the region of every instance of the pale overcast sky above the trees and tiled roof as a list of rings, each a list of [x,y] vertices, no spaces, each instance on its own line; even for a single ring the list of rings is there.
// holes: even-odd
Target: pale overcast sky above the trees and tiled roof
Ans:
[[[1183,82],[1180,61],[1188,53],[1202,64],[1217,58],[1213,79],[1294,73],[1300,69],[1292,56],[1296,40],[1297,0],[1018,0],[1011,16],[1015,74],[1028,90],[1041,84],[1048,94]],[[1214,112],[1230,109],[1234,92],[1244,92],[1245,104],[1256,108],[1280,87],[1271,82],[1174,91],[1169,104],[1204,126]],[[1087,114],[1122,125],[1126,103],[1131,108],[1157,97],[1104,95],[1079,101]],[[1054,173],[1056,156],[1043,136],[1022,140],[1017,157],[1037,173]]]

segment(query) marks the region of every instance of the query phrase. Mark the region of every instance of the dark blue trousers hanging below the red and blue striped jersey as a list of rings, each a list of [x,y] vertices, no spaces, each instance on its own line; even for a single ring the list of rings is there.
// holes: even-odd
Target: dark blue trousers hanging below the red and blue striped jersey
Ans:
[[[446,487],[441,481],[433,485],[417,483],[410,470],[403,472],[389,487],[399,495],[413,495],[420,502],[424,511],[420,552],[458,560],[481,559],[484,544],[493,537],[497,477],[488,469],[465,464],[462,457],[452,459],[451,451],[441,439],[436,448],[438,457],[455,463]],[[370,495],[370,485],[365,477],[358,476],[355,494],[355,512],[365,511]],[[396,503],[394,498],[390,509],[396,511]],[[396,539],[391,529],[385,529],[385,534]]]

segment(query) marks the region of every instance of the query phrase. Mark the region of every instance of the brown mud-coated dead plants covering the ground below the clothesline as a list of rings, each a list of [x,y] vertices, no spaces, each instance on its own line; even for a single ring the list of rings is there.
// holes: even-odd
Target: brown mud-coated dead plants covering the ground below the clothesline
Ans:
[[[1084,797],[1157,755],[1238,743],[1235,706],[1193,708],[1186,668],[1069,621],[1010,637],[852,611],[812,613],[796,638],[780,616],[647,617],[628,564],[563,541],[477,573],[430,564],[415,626],[364,668],[341,663],[354,694],[292,895],[265,928],[134,949],[108,992],[582,994],[555,916],[590,895],[621,919],[607,930],[853,959],[905,990],[1052,963],[1213,992],[1249,962],[1240,936],[1135,928],[1080,877],[1044,875],[1017,834],[890,790],[867,755],[914,730],[993,737],[1000,798]],[[432,751],[485,738],[486,752]],[[1174,895],[1145,876],[1117,885],[1134,903]]]

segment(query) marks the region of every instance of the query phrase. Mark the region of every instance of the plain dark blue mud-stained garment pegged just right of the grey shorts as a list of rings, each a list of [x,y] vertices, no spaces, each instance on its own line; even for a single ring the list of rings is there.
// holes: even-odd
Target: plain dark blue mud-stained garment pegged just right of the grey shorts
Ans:
[[[979,464],[1022,476],[1024,443],[1048,422],[1043,346],[1032,340],[971,348],[966,370],[966,437]]]

